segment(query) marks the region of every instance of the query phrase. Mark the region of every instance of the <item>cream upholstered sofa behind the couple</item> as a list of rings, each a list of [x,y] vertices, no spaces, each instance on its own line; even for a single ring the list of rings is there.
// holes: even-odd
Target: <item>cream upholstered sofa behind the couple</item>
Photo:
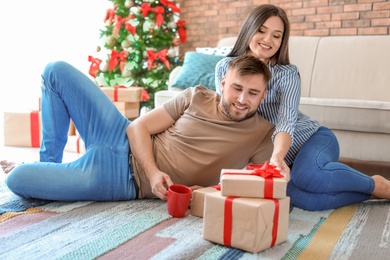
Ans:
[[[292,36],[290,60],[300,70],[300,110],[334,131],[340,160],[390,174],[390,35]],[[168,90],[156,93],[156,107],[181,91],[172,85],[185,66],[172,71]]]

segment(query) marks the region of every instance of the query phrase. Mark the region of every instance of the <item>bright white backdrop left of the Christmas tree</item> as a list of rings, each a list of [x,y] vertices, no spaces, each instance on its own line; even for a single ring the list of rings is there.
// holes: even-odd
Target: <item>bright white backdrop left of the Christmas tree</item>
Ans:
[[[46,63],[65,60],[88,72],[111,6],[108,0],[0,2],[1,120],[4,111],[38,106]]]

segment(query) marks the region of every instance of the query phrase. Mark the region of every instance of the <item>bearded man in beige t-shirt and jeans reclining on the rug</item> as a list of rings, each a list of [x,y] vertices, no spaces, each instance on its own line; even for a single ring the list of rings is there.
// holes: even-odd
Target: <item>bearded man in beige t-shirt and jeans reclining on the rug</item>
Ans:
[[[188,88],[133,122],[67,63],[49,64],[42,77],[41,162],[18,165],[6,179],[20,196],[166,200],[173,183],[193,189],[215,185],[222,168],[270,158],[274,128],[256,112],[270,72],[256,58],[232,59],[222,96],[201,86]],[[86,153],[61,163],[70,118]],[[289,172],[284,174],[288,178]]]

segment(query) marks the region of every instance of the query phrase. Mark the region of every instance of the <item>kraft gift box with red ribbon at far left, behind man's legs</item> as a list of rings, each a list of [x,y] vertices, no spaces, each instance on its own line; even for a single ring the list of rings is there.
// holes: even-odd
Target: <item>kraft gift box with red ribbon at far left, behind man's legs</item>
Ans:
[[[41,126],[39,111],[4,112],[4,145],[40,147]]]

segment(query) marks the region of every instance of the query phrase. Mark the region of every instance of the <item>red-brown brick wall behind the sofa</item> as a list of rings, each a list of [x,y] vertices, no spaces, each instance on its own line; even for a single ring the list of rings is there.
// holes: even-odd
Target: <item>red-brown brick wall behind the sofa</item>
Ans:
[[[380,0],[178,0],[186,21],[187,42],[181,52],[215,46],[223,37],[237,35],[247,13],[271,3],[282,7],[291,35],[390,34],[390,1]]]

